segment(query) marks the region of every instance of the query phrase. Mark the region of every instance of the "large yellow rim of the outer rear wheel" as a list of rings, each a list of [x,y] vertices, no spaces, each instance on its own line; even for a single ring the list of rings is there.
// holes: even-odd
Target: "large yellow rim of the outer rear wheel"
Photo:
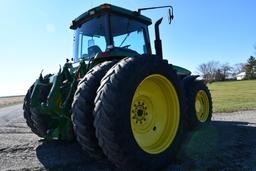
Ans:
[[[146,77],[133,96],[130,120],[139,147],[159,154],[173,142],[180,121],[180,104],[173,84],[164,76]]]

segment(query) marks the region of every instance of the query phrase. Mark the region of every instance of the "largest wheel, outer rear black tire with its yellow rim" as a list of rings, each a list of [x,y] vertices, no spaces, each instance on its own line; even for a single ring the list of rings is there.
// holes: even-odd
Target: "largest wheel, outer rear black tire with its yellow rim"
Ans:
[[[143,86],[148,90],[156,88],[155,92],[159,94],[155,95]],[[167,98],[165,91],[174,96]],[[162,98],[154,98],[158,95]],[[176,103],[171,102],[173,99]],[[176,112],[171,112],[173,115],[163,112],[158,100],[166,104],[163,105],[166,111],[177,109]],[[146,55],[121,60],[102,79],[95,98],[94,126],[104,154],[117,167],[126,170],[165,167],[175,157],[183,140],[183,104],[181,82],[167,61]],[[154,122],[155,125],[151,124]],[[150,129],[145,134],[140,133],[147,125]],[[144,138],[148,140],[148,146]]]

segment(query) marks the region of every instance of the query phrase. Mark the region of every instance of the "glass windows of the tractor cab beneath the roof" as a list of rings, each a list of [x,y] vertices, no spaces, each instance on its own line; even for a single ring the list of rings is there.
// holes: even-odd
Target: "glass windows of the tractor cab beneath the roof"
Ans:
[[[115,47],[149,53],[146,35],[147,27],[140,22],[124,16],[98,15],[75,30],[74,61],[90,60]]]

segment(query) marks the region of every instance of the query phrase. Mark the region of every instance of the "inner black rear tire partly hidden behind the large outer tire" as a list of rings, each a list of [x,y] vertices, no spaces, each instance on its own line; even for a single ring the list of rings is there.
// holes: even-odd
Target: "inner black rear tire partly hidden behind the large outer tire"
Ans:
[[[100,159],[104,157],[93,126],[94,99],[101,79],[115,64],[115,61],[104,62],[93,67],[80,81],[72,104],[72,120],[76,139],[91,157]]]

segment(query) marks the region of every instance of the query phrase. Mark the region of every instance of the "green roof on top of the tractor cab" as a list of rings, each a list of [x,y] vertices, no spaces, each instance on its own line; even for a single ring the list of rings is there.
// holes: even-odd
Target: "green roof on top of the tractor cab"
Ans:
[[[88,10],[87,12],[83,13],[75,20],[73,20],[70,29],[76,29],[77,27],[80,27],[83,23],[94,18],[95,16],[107,13],[129,17],[146,25],[152,24],[152,20],[150,18],[141,15],[137,11],[131,11],[111,4],[102,4],[100,6]]]

